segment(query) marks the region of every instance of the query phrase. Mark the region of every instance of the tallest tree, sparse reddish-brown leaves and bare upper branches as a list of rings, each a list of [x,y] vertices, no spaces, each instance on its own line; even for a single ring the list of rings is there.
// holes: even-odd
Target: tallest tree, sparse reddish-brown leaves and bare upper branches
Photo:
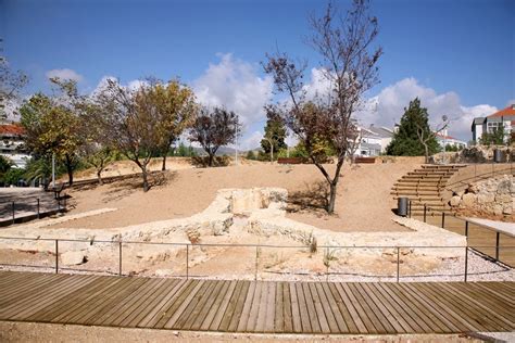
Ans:
[[[354,0],[342,15],[331,3],[325,15],[311,18],[310,45],[321,55],[321,71],[330,85],[323,94],[309,99],[303,82],[306,63],[296,63],[286,53],[267,55],[266,73],[274,78],[288,103],[277,105],[285,122],[304,144],[312,162],[329,185],[328,213],[334,213],[337,185],[346,156],[354,149],[357,136],[354,113],[361,107],[364,93],[378,79],[377,61],[381,48],[373,48],[378,22],[368,14],[368,1]],[[337,163],[332,176],[316,155],[316,144],[325,142],[335,151]]]

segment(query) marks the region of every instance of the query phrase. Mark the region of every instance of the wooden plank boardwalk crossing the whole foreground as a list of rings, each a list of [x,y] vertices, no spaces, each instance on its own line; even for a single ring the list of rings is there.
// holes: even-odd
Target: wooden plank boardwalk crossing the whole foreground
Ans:
[[[0,271],[0,320],[273,333],[515,330],[515,282],[338,283]]]

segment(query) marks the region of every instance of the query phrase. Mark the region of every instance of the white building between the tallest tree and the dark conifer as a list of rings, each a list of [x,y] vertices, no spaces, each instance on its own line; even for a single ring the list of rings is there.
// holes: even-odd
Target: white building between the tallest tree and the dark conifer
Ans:
[[[386,152],[386,148],[393,138],[393,130],[370,125],[367,128],[359,128],[360,145],[355,154],[359,156],[378,156]]]

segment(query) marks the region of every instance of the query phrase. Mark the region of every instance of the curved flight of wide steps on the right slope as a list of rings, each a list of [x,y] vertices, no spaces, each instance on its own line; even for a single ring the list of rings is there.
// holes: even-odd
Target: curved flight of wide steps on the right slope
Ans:
[[[443,190],[448,180],[464,165],[423,165],[407,173],[399,179],[391,189],[391,194],[397,200],[400,196],[412,201],[412,215],[424,215],[424,204],[427,208],[438,213],[427,212],[427,215],[438,215],[441,212],[450,213],[449,206],[443,202]]]

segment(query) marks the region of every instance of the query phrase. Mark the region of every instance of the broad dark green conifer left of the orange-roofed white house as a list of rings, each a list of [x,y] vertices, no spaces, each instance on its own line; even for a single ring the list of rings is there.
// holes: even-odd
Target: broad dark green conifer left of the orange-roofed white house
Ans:
[[[429,115],[426,107],[420,106],[420,100],[410,101],[404,107],[399,130],[387,147],[387,154],[393,156],[423,156],[439,151],[435,132],[429,127]]]

